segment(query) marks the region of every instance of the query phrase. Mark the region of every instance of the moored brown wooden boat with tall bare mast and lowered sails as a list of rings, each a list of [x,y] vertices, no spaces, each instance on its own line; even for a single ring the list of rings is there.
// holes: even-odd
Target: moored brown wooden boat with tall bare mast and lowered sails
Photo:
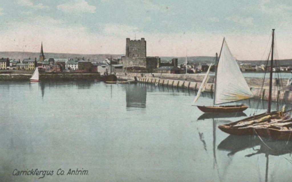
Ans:
[[[271,112],[274,30],[275,29],[272,29],[272,53],[267,112],[232,123],[227,123],[225,125],[220,125],[218,126],[220,130],[232,135],[258,135],[260,137],[269,137],[270,139],[292,140],[292,118],[291,115],[287,114],[289,111],[285,112],[283,108],[281,111]]]

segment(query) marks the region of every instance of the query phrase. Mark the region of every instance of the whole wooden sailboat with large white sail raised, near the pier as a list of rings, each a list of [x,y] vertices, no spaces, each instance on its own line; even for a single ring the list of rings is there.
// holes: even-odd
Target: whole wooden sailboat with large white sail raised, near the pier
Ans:
[[[217,61],[216,53],[216,71],[215,71],[215,83],[214,83],[214,102],[213,106],[197,106],[201,111],[207,113],[231,113],[231,112],[242,112],[248,107],[246,105],[224,105],[215,106],[223,103],[235,102],[238,100],[249,99],[253,97],[251,90],[249,89],[246,80],[244,79],[239,66],[232,56],[225,38],[220,50],[219,60]],[[203,79],[203,82],[199,88],[197,96],[195,97],[193,104],[197,102],[201,92],[205,88],[208,82],[208,76],[210,68]]]

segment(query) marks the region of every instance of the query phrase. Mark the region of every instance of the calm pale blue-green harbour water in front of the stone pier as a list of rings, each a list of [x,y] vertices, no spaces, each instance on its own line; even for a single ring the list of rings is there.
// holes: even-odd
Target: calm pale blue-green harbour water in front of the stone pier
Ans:
[[[234,137],[194,91],[147,84],[0,82],[0,181],[290,181],[292,143]],[[198,105],[211,105],[204,93]],[[241,103],[241,102],[239,102]],[[273,104],[273,109],[281,105]],[[234,115],[232,115],[234,116]],[[216,117],[216,118],[214,118]],[[268,148],[267,146],[270,148]],[[13,170],[53,170],[13,176]],[[57,175],[58,169],[65,175]],[[88,175],[66,175],[69,169]]]

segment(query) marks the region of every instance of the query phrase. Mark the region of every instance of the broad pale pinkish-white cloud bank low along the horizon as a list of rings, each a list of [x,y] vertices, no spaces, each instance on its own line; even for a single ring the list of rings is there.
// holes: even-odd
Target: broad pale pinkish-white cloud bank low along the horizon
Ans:
[[[34,22],[32,27],[31,22]],[[17,27],[11,29],[11,27]],[[9,21],[0,29],[1,51],[39,52],[43,41],[45,52],[77,54],[125,54],[126,38],[144,37],[148,56],[214,56],[220,52],[223,36],[226,37],[234,57],[240,60],[263,58],[270,32],[264,35],[233,32],[223,35],[214,32],[153,33],[124,24],[99,25],[99,31],[78,24],[66,24],[49,16],[28,17]],[[292,35],[289,31],[277,32],[279,59],[291,58]]]

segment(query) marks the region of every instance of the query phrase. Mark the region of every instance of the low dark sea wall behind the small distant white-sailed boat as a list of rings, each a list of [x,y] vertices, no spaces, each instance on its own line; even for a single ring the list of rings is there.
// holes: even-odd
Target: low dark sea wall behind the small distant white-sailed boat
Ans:
[[[0,81],[29,81],[32,74],[0,74]],[[100,79],[98,73],[40,73],[40,80],[95,80]]]

